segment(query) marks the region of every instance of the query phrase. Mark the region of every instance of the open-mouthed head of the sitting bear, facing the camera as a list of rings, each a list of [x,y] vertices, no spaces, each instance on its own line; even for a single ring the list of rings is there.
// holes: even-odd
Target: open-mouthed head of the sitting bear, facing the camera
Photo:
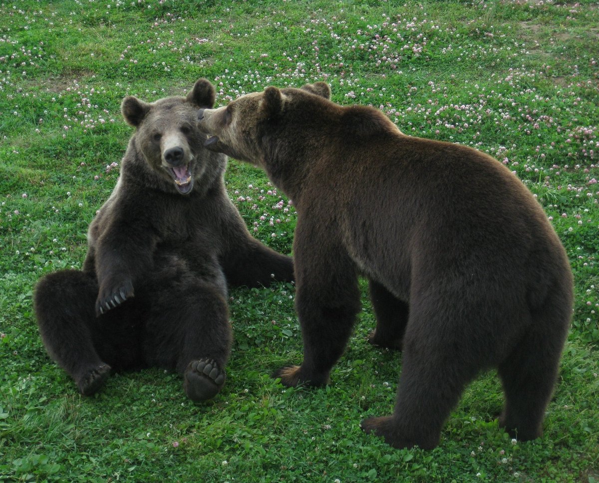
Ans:
[[[199,79],[186,97],[168,97],[144,102],[126,96],[121,112],[136,129],[132,145],[141,153],[149,168],[162,179],[168,192],[188,195],[193,182],[204,174],[214,154],[204,148],[207,136],[198,130],[198,109],[211,108],[216,92],[210,81]]]

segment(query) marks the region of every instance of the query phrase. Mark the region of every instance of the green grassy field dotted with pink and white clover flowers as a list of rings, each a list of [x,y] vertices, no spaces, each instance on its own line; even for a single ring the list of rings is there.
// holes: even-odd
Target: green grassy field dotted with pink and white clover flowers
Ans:
[[[599,481],[598,26],[588,0],[2,1],[0,481]],[[194,405],[159,369],[77,393],[41,344],[33,287],[81,267],[131,135],[123,96],[183,95],[199,77],[219,105],[324,80],[335,102],[373,105],[406,133],[476,147],[516,172],[576,281],[542,439],[498,429],[494,373],[468,387],[432,451],[362,433],[362,418],[392,411],[401,370],[398,354],[365,340],[365,284],[329,387],[270,378],[301,362],[294,287],[278,285],[231,291],[228,380],[210,403]],[[250,230],[291,253],[283,193],[234,160],[226,181]]]

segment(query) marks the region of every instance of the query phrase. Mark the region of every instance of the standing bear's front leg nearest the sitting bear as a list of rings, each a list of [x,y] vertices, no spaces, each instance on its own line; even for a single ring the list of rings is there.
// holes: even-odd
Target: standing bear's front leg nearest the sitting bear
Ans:
[[[325,385],[359,311],[358,277],[343,247],[325,244],[308,251],[301,237],[296,238],[295,272],[304,361],[301,366],[282,367],[274,376],[290,387]]]

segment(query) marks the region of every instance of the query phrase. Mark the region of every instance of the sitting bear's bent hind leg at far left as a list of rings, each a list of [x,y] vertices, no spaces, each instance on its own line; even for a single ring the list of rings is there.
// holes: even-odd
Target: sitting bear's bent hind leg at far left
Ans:
[[[94,346],[95,299],[92,275],[62,270],[45,275],[35,288],[34,308],[44,346],[77,383],[81,394],[98,391],[110,375]]]

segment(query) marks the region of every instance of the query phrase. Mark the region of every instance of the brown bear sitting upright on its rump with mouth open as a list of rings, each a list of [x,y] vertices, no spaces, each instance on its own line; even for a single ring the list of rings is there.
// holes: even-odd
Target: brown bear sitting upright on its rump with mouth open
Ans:
[[[229,199],[226,156],[203,146],[197,111],[214,97],[200,79],[186,97],[123,99],[136,129],[89,226],[83,270],[37,284],[41,338],[82,394],[98,391],[111,369],[158,366],[183,373],[190,399],[210,399],[231,347],[227,282],[293,278],[291,257],[253,238]]]

